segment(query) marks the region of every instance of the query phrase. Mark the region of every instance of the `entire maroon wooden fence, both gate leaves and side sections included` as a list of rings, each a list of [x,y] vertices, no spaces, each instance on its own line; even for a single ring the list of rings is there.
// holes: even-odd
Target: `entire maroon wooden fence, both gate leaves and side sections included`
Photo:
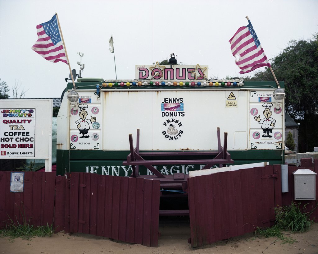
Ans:
[[[191,246],[253,232],[274,223],[277,205],[294,201],[298,168],[318,173],[318,159],[288,166],[289,192],[281,193],[280,165],[189,178]],[[276,179],[277,177],[277,179]],[[0,228],[10,219],[55,232],[80,232],[117,240],[158,245],[160,182],[90,173],[72,177],[25,172],[24,192],[10,192],[10,172],[0,172]],[[316,200],[318,179],[316,180]],[[299,203],[299,201],[297,201]],[[317,201],[301,201],[318,222]]]

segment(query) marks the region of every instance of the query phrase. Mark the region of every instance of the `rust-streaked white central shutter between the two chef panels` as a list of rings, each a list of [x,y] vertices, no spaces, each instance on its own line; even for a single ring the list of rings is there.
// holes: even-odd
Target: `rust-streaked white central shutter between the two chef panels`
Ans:
[[[140,129],[142,150],[216,150],[217,127],[228,132],[229,150],[247,149],[247,91],[229,90],[103,92],[103,149],[128,150],[128,134]],[[238,121],[239,120],[239,121]]]

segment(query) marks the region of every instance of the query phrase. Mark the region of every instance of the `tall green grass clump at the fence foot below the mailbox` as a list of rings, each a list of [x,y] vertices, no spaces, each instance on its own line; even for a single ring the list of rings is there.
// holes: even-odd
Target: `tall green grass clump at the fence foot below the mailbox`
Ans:
[[[304,205],[303,210],[306,208]],[[295,240],[290,236],[284,236],[282,231],[291,231],[292,233],[305,232],[310,229],[313,220],[309,219],[309,215],[300,209],[300,203],[296,205],[292,202],[289,206],[278,206],[274,208],[276,223],[270,228],[257,227],[256,233],[265,237],[276,237],[282,243],[294,243]]]

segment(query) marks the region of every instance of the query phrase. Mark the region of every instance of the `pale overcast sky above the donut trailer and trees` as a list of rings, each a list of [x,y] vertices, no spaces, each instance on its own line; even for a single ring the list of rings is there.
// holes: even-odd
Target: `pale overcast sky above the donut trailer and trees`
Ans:
[[[10,89],[22,84],[25,98],[61,96],[68,66],[31,50],[38,39],[36,25],[55,12],[71,68],[77,72],[78,52],[84,53],[82,77],[115,79],[108,43],[113,34],[118,79],[134,79],[136,64],[149,65],[171,53],[179,63],[208,65],[209,76],[221,79],[242,76],[228,41],[248,24],[246,16],[271,59],[292,39],[312,39],[318,32],[317,10],[316,0],[0,0],[0,78]]]

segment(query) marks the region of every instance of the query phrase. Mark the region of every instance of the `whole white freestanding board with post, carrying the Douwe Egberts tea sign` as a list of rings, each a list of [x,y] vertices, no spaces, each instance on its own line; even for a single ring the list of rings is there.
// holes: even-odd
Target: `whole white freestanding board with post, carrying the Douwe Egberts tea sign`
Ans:
[[[6,158],[52,160],[52,99],[0,100],[0,159]]]

